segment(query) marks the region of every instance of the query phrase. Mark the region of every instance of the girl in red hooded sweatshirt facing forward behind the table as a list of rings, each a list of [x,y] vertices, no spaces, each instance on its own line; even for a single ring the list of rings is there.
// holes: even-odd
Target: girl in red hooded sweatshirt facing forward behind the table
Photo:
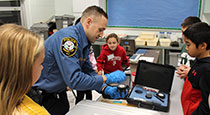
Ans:
[[[122,62],[129,67],[129,60],[126,51],[119,45],[119,38],[115,33],[109,34],[106,38],[106,44],[102,46],[101,54],[97,58],[98,74],[111,73],[122,69]]]

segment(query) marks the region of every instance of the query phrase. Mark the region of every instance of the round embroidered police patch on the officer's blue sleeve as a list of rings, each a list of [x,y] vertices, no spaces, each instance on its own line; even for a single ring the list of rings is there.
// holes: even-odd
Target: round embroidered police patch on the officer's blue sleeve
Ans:
[[[78,42],[74,38],[63,38],[61,41],[61,52],[67,57],[73,56],[78,49]]]

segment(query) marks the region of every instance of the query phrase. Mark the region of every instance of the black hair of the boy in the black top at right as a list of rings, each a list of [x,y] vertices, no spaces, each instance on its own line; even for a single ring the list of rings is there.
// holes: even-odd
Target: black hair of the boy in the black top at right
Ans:
[[[198,22],[183,32],[184,36],[195,43],[196,47],[203,42],[207,44],[206,50],[210,49],[210,26],[205,22]]]

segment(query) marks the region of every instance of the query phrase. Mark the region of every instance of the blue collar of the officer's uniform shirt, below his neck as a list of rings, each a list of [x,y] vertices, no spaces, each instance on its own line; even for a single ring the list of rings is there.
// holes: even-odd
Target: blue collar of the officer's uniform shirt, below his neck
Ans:
[[[79,22],[76,26],[79,28],[79,30],[80,30],[80,32],[81,32],[80,35],[82,36],[82,39],[81,39],[81,41],[82,41],[82,46],[83,46],[83,47],[90,46],[91,43],[88,41],[88,39],[87,39],[87,37],[86,37],[86,34],[85,34],[84,28],[83,28],[83,26],[82,26],[82,23]]]

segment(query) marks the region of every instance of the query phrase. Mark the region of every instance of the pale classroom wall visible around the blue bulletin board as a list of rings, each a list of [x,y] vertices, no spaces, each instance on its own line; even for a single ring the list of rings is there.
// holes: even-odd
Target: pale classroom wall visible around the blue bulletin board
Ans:
[[[106,10],[106,0],[24,0],[28,8],[27,9],[27,27],[29,28],[33,23],[37,23],[40,21],[46,21],[53,15],[63,15],[70,14],[74,15],[76,19],[81,16],[82,11],[90,6],[97,5],[101,6],[104,10]],[[201,20],[210,24],[210,13],[206,13],[210,8],[207,7],[207,4],[210,0],[204,0],[202,10],[205,13],[201,14]],[[208,9],[204,9],[208,8]],[[210,12],[210,11],[209,11]],[[139,35],[141,31],[172,31],[173,33],[177,33],[179,37],[179,30],[157,30],[157,29],[142,29],[142,28],[110,28],[108,27],[105,33],[121,33],[128,35]]]

